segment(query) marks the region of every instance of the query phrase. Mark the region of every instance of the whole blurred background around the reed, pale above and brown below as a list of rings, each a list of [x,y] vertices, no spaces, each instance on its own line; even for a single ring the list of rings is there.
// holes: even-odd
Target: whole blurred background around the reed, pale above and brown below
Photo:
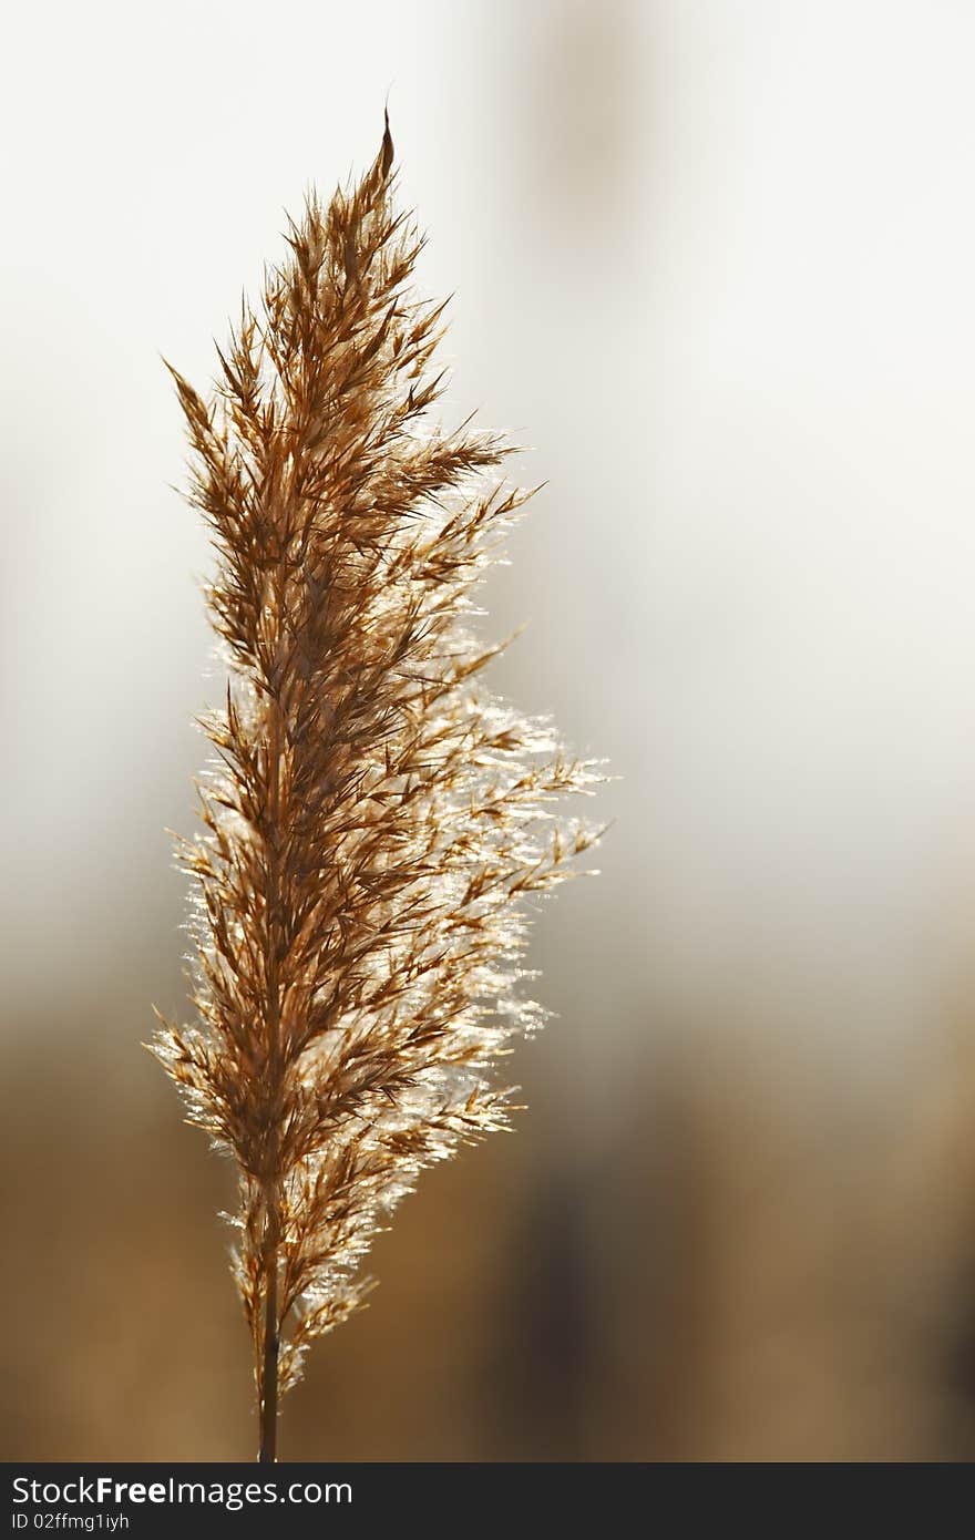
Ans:
[[[183,1010],[220,693],[159,354],[373,157],[445,416],[547,490],[494,684],[621,778],[530,1112],[428,1173],[285,1458],[975,1457],[975,12],[92,0],[0,71],[6,1460],[250,1458]]]

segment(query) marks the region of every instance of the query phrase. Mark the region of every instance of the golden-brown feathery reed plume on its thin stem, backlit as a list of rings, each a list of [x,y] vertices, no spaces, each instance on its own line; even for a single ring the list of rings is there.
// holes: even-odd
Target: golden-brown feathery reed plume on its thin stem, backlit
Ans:
[[[430,425],[442,305],[410,279],[393,140],[314,194],[203,400],[173,371],[228,667],[194,879],[191,1026],[152,1050],[239,1172],[236,1281],[262,1460],[310,1343],[425,1166],[505,1126],[524,899],[591,844],[547,724],[485,695],[474,590],[528,493],[502,440]]]

